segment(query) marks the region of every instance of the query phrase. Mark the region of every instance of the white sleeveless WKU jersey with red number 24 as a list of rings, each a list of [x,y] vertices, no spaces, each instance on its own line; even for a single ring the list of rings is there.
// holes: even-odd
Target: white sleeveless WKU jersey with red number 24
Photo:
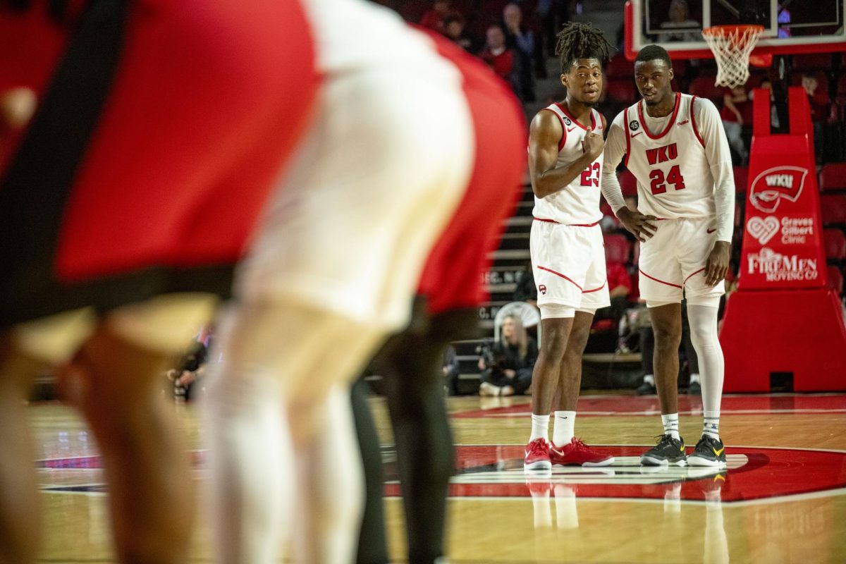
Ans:
[[[662,131],[650,131],[645,104],[624,110],[626,167],[637,178],[638,210],[664,219],[715,214],[714,178],[699,130],[696,96],[676,93],[676,106]]]

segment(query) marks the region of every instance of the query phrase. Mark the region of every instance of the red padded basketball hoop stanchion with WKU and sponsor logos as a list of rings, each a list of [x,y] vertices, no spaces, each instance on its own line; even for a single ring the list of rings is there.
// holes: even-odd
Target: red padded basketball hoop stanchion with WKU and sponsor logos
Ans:
[[[773,372],[792,372],[794,391],[846,390],[846,326],[826,287],[808,99],[790,88],[790,133],[773,135],[769,94],[755,90],[739,285],[720,332],[723,389],[769,392]]]

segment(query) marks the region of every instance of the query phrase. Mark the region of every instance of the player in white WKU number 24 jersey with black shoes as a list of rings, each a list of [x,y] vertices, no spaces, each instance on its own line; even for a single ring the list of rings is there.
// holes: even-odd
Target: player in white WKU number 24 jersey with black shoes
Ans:
[[[734,179],[728,140],[710,100],[674,92],[667,51],[644,47],[634,63],[643,100],[620,112],[608,131],[602,191],[624,226],[640,239],[640,296],[655,330],[655,380],[664,433],[640,457],[644,465],[688,463],[722,468],[719,435],[724,362],[717,307],[725,292],[734,220]],[[638,210],[623,201],[614,168],[638,181]],[[690,338],[700,363],[705,424],[685,457],[678,435],[678,343],[681,300],[687,298]]]

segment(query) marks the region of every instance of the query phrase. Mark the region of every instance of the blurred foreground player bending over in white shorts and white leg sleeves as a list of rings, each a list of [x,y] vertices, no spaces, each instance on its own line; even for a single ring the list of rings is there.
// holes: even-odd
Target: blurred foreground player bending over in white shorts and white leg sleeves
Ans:
[[[349,384],[408,323],[474,157],[461,74],[431,39],[376,4],[301,3],[316,120],[238,272],[206,398],[222,562],[277,561],[285,536],[294,561],[354,561]]]

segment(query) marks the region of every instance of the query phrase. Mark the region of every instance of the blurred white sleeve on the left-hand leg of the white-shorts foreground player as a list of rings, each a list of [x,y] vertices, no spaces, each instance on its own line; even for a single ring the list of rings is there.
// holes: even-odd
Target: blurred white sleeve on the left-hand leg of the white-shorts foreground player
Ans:
[[[294,502],[277,374],[218,365],[206,387],[212,530],[222,564],[277,561]],[[225,374],[223,374],[225,372]]]

